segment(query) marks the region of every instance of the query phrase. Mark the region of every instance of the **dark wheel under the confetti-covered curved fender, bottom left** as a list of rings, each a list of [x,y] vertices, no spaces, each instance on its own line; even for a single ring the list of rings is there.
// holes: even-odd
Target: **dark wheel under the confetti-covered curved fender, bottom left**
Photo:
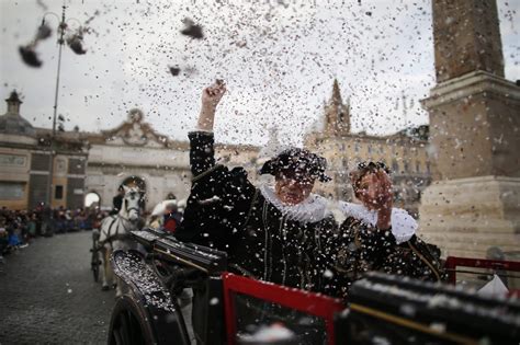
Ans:
[[[151,326],[129,297],[115,302],[110,320],[109,345],[155,344]]]

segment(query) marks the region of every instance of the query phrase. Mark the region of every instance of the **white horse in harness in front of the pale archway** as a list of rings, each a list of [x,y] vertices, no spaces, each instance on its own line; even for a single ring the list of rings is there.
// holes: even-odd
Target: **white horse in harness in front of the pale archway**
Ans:
[[[135,246],[135,242],[129,237],[129,231],[139,230],[140,218],[139,203],[143,198],[143,194],[137,187],[123,186],[125,189],[125,196],[123,197],[123,204],[117,215],[109,216],[101,221],[100,227],[100,239],[101,245],[100,253],[102,257],[102,289],[109,290],[112,286],[117,286],[116,296],[122,295],[121,284],[117,284],[118,279],[115,277],[112,266],[110,265],[110,257],[115,250],[129,250]]]

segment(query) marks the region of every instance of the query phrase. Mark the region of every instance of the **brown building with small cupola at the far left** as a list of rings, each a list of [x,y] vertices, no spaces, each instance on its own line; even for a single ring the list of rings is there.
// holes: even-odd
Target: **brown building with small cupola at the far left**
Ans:
[[[0,206],[25,209],[48,200],[54,164],[53,206],[81,207],[88,157],[81,135],[63,133],[52,141],[50,130],[34,128],[20,115],[15,91],[5,102],[8,111],[0,116]]]

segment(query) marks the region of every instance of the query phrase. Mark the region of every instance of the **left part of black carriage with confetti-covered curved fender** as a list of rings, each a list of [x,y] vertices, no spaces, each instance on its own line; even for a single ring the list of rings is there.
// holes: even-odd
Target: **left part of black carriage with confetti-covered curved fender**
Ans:
[[[145,257],[136,251],[116,251],[112,256],[114,273],[129,292],[114,308],[109,344],[191,344],[186,322],[192,323],[200,343],[225,344],[224,309],[210,301],[222,300],[226,253],[184,244],[154,229],[133,231],[132,235],[149,254]],[[157,263],[178,269],[169,275],[167,267],[157,267]],[[184,320],[177,299],[177,292],[185,287],[193,289],[192,320]],[[129,334],[122,342],[115,338],[117,314],[125,313],[135,319],[133,326],[140,329],[143,336]]]

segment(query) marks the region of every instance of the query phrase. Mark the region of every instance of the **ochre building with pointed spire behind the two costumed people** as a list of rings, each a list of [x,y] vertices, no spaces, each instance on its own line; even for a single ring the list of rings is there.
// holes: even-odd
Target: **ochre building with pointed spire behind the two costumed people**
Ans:
[[[349,171],[363,161],[381,161],[392,170],[395,205],[417,216],[420,194],[430,183],[427,151],[428,126],[403,130],[391,136],[354,134],[350,125],[350,105],[343,103],[339,83],[324,104],[323,123],[305,138],[305,146],[323,154],[332,182],[320,184],[318,193],[334,199],[350,200]]]

